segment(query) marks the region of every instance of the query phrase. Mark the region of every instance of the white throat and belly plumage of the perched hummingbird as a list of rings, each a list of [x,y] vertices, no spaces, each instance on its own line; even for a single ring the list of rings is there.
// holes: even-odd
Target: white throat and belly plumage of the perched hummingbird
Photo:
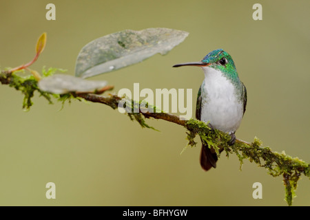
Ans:
[[[203,67],[205,80],[201,87],[200,120],[210,122],[215,129],[235,132],[243,116],[243,103],[236,97],[234,85],[222,72],[211,67]]]

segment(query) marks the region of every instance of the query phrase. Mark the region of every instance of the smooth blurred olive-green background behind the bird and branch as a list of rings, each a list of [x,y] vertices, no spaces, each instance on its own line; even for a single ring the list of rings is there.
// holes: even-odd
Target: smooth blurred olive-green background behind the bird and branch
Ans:
[[[45,5],[56,5],[56,21]],[[252,6],[262,4],[262,21]],[[96,76],[114,92],[121,88],[192,88],[196,102],[199,68],[172,65],[200,61],[223,48],[234,58],[247,86],[247,112],[236,136],[257,136],[273,151],[310,161],[310,1],[1,1],[0,65],[16,67],[34,56],[38,37],[48,42],[32,69],[59,67],[74,74],[76,56],[88,42],[121,30],[173,28],[189,36],[166,56]],[[23,96],[0,86],[1,206],[286,206],[282,177],[222,154],[218,167],[200,168],[198,146],[187,148],[185,129],[147,120],[160,132],[141,129],[127,115],[103,104],[48,104],[38,94],[23,112]],[[193,112],[195,103],[193,104]],[[46,199],[45,184],[56,184]],[[252,184],[262,183],[262,199]],[[309,179],[298,181],[295,206],[310,205]]]

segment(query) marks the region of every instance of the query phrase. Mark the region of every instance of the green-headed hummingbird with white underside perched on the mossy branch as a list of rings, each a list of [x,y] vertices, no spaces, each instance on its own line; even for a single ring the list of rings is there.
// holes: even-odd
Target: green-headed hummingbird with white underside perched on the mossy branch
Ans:
[[[240,81],[236,66],[231,56],[223,49],[209,52],[200,62],[180,63],[173,67],[201,67],[205,79],[198,90],[196,118],[209,122],[212,131],[218,129],[229,133],[229,145],[236,141],[236,131],[240,126],[247,106],[247,89]],[[216,168],[218,157],[214,148],[209,148],[203,141],[200,151],[200,165],[204,170]],[[223,147],[220,147],[220,152]]]

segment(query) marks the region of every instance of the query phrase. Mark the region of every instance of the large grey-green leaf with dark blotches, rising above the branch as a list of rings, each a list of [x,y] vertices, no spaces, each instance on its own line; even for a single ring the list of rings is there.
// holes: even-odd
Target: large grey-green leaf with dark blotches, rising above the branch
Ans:
[[[124,30],[85,45],[76,60],[75,76],[87,78],[141,62],[154,54],[167,54],[188,32],[168,28]]]

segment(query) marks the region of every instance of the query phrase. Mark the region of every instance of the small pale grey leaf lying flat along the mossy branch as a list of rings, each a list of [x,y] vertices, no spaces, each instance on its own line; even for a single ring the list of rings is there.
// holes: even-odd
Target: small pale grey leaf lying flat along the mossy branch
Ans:
[[[70,91],[92,93],[105,87],[107,82],[83,80],[82,78],[65,74],[54,74],[53,76],[42,78],[38,85],[42,91],[48,91],[52,94],[66,94]]]

